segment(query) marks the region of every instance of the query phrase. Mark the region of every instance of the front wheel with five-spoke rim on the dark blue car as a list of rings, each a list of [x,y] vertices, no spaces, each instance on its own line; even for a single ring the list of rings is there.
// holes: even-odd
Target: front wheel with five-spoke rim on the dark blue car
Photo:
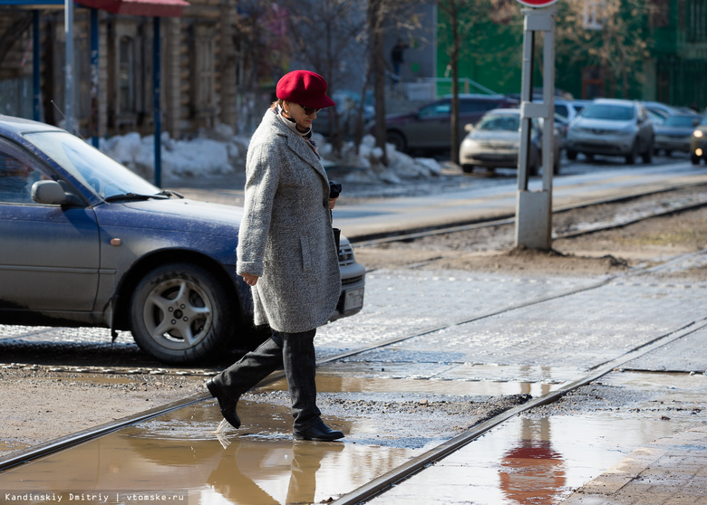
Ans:
[[[132,337],[160,361],[191,363],[213,357],[227,348],[232,329],[226,290],[197,265],[160,266],[132,294]]]

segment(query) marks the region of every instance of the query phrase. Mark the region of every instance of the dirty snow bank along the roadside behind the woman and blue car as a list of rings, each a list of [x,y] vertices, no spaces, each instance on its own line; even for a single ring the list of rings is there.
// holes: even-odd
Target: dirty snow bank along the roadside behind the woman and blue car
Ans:
[[[432,158],[410,157],[386,145],[388,166],[381,158],[383,149],[375,147],[375,139],[366,135],[356,153],[353,142],[347,142],[340,156],[334,156],[332,146],[315,133],[315,142],[324,167],[343,168],[342,181],[358,183],[398,184],[404,179],[441,175],[440,164]],[[212,130],[200,130],[197,138],[175,140],[168,133],[161,135],[162,177],[166,180],[192,177],[218,177],[244,172],[249,138],[234,135],[226,125]],[[154,137],[139,133],[112,137],[101,141],[101,150],[151,180],[154,176]]]

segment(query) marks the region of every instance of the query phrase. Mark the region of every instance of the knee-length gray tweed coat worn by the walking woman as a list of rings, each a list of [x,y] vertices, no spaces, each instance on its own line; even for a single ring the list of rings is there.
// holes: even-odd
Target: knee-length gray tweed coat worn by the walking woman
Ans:
[[[287,333],[322,326],[341,292],[329,180],[304,138],[267,110],[247,152],[237,272],[251,288],[257,325]]]

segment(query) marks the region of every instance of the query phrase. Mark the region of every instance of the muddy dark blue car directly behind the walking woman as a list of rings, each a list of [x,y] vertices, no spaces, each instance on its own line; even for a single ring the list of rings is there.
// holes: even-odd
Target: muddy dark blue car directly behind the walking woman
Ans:
[[[0,324],[129,329],[167,363],[252,344],[250,288],[235,272],[242,214],[162,191],[63,129],[0,115]],[[334,319],[363,305],[364,268],[344,237],[339,263]]]

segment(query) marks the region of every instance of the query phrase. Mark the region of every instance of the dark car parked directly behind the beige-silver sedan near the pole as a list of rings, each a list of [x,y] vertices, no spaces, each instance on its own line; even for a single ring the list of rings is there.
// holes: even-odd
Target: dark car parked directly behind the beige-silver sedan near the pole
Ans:
[[[518,105],[516,100],[503,95],[474,94],[460,95],[459,103],[460,138],[464,138],[464,126],[476,124],[487,111]],[[385,129],[388,142],[401,152],[446,150],[450,148],[450,121],[451,97],[448,96],[407,114],[387,116]]]

